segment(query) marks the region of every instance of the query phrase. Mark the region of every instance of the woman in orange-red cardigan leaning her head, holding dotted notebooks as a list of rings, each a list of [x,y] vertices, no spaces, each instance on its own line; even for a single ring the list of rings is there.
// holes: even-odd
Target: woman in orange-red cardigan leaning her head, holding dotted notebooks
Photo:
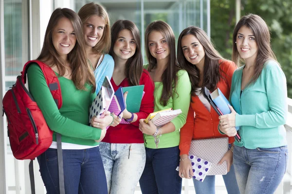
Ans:
[[[190,77],[192,84],[191,104],[185,125],[181,128],[180,170],[184,178],[194,176],[191,161],[188,158],[192,140],[222,138],[218,131],[219,115],[202,95],[202,88],[210,91],[220,88],[228,99],[233,72],[236,65],[225,60],[215,50],[206,33],[198,27],[190,26],[183,30],[178,40],[178,61]],[[233,143],[234,138],[229,138]],[[234,167],[232,149],[226,152],[219,163],[227,162],[227,175],[223,175],[228,193],[239,194]],[[206,176],[204,181],[193,178],[196,194],[215,194],[215,176]]]

